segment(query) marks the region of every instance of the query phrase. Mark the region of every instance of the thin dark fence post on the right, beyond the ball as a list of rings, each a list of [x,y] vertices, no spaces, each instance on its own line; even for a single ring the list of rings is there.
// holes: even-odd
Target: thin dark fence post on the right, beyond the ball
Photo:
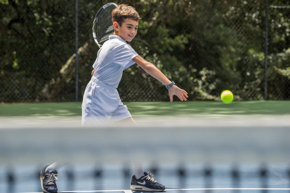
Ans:
[[[264,100],[267,100],[267,55],[268,55],[268,0],[266,0],[265,14],[265,67],[264,67]]]

